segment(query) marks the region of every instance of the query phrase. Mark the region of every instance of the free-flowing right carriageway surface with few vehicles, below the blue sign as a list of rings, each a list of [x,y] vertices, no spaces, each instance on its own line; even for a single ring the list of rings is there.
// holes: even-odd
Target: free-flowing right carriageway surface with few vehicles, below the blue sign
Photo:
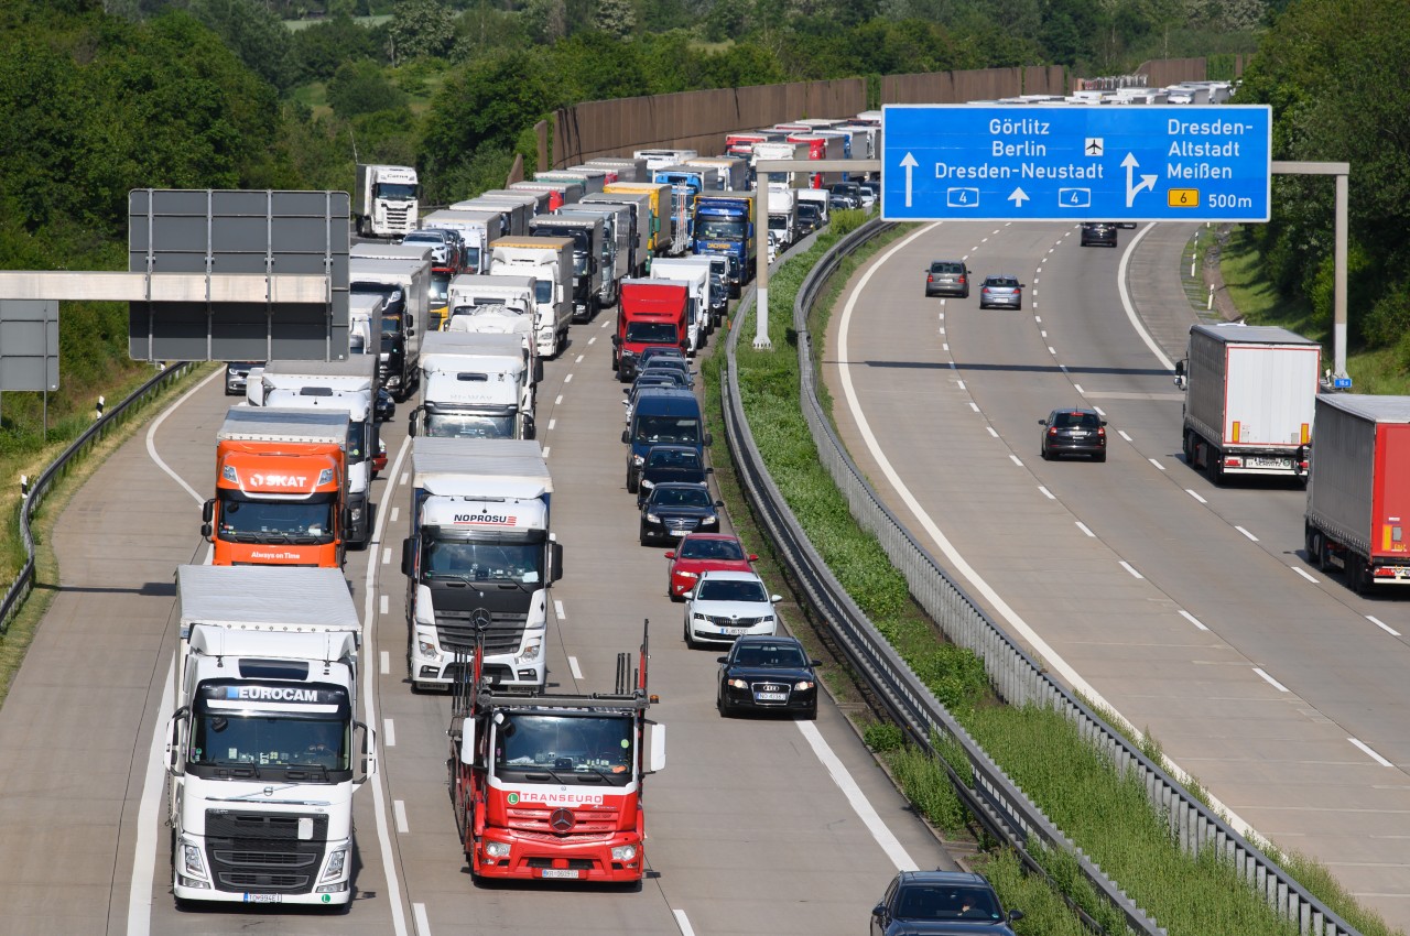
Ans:
[[[829,333],[876,451],[829,368],[839,426],[912,529],[924,522],[902,488],[952,541],[942,561],[967,567],[976,596],[1010,613],[1060,678],[1148,727],[1238,819],[1316,854],[1404,925],[1410,654],[1366,616],[1406,633],[1410,606],[1358,599],[1304,562],[1296,486],[1215,488],[1183,464],[1179,392],[1117,285],[1134,234],[1148,235],[1122,233],[1110,251],[1080,248],[1063,226],[942,224],[895,250],[845,348],[845,316]],[[1159,237],[1173,266],[1182,241]],[[977,278],[1019,275],[1025,309],[925,300],[922,265],[957,257]],[[1151,276],[1153,264],[1138,266]],[[1167,357],[1190,317],[1177,286],[1135,289]],[[1036,420],[1077,403],[1107,414],[1108,462],[1041,461]]]

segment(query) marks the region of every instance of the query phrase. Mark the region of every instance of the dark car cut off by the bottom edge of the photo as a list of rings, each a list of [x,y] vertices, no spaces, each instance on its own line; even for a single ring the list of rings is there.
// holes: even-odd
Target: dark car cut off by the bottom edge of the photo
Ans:
[[[901,871],[871,908],[871,936],[1014,936],[994,885],[967,871]]]

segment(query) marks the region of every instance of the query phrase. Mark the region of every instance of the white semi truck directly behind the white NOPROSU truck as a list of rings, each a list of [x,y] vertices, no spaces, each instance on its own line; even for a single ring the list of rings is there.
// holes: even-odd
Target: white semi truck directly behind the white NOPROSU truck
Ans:
[[[422,354],[422,405],[410,436],[533,438],[534,375],[517,335],[437,331]]]

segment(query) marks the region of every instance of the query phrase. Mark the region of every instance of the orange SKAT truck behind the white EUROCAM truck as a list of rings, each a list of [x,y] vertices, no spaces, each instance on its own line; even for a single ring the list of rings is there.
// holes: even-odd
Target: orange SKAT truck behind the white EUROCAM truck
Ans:
[[[347,412],[233,406],[200,533],[214,565],[341,568]]]

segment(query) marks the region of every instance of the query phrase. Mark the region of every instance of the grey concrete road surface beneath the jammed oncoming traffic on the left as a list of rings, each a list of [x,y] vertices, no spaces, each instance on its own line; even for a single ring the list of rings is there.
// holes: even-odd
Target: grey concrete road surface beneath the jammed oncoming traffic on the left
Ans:
[[[605,324],[574,327],[540,393],[567,567],[553,592],[561,610],[550,622],[550,679],[611,688],[615,654],[634,653],[642,619],[651,619],[651,691],[663,699],[653,715],[668,726],[670,763],[647,782],[644,885],[470,880],[446,791],[448,699],[413,695],[405,681],[402,406],[384,426],[400,469],[374,482],[379,541],[350,553],[345,569],[358,608],[372,612],[364,661],[382,768],[376,789],[355,798],[357,899],[336,922],[299,909],[175,911],[154,726],[165,730],[172,572],[204,558],[197,502],[234,402],[213,381],[164,414],[149,445],[147,433],[125,443],[59,520],[63,584],[0,710],[0,861],[10,870],[0,875],[10,905],[0,932],[850,933],[897,863],[952,864],[833,706],[815,725],[715,713],[719,651],[684,647],[682,606],[664,593],[664,550],[636,544]]]

